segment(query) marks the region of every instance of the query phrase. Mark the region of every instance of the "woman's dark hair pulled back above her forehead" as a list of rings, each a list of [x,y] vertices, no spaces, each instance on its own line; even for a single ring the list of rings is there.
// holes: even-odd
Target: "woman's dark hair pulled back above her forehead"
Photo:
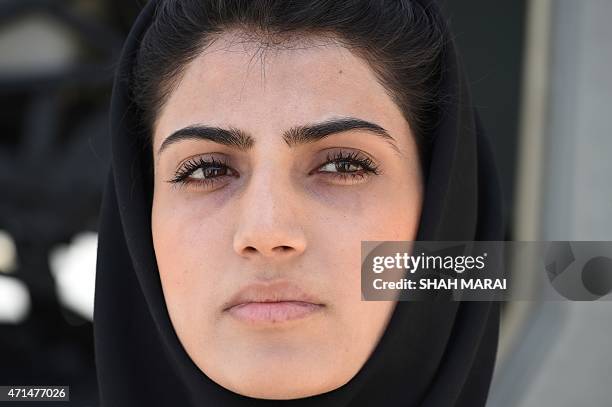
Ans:
[[[414,0],[162,0],[136,55],[132,97],[151,130],[185,66],[230,29],[266,47],[284,38],[333,37],[387,89],[423,163],[440,110],[444,26],[437,10]]]

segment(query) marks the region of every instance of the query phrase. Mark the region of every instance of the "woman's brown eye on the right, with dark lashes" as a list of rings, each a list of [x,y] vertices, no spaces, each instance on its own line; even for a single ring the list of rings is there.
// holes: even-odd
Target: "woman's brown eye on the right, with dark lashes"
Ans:
[[[371,158],[358,152],[327,154],[327,162],[317,169],[318,173],[327,174],[342,181],[359,181],[370,175],[378,175],[378,166]]]

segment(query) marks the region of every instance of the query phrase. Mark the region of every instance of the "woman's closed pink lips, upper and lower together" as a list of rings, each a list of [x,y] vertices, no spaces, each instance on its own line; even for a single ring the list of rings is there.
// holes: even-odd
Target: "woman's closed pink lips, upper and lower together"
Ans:
[[[325,305],[290,282],[250,284],[223,307],[232,317],[249,324],[279,324],[306,318]]]

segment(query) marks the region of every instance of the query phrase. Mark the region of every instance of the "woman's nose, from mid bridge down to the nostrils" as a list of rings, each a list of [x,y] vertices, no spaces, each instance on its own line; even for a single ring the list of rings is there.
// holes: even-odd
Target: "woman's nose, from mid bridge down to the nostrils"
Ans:
[[[251,177],[240,199],[234,251],[246,258],[281,260],[293,258],[306,249],[306,237],[299,213],[303,196],[280,180],[278,172]]]

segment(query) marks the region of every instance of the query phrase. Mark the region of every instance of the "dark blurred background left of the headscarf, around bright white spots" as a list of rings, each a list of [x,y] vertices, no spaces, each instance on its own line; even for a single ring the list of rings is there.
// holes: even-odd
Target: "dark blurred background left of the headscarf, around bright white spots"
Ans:
[[[70,384],[95,405],[91,320],[57,295],[50,254],[95,231],[109,161],[114,63],[138,11],[129,1],[0,2],[0,229],[16,246],[3,278],[29,313],[0,325],[0,383]]]

